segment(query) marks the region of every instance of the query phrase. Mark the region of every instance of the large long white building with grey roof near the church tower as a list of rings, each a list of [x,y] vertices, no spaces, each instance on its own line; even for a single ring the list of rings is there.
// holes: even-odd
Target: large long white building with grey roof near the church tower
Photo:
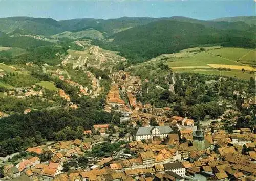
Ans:
[[[167,134],[172,132],[169,126],[155,126],[155,127],[139,127],[136,133],[136,141],[143,139],[152,139],[154,136],[166,138]]]

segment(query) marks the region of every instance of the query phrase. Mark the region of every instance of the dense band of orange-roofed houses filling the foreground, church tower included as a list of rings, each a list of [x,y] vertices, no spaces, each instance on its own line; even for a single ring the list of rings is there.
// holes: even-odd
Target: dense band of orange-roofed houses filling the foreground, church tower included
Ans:
[[[173,118],[178,124],[186,119]],[[105,157],[88,157],[86,168],[63,172],[74,156],[86,156],[96,145],[109,142],[109,124],[84,130],[83,140],[61,141],[28,148],[33,153],[17,165],[5,166],[5,178],[27,180],[256,180],[256,134],[250,128],[226,133],[212,123],[210,128],[170,126],[139,127],[134,140]],[[118,132],[118,127],[115,128]],[[97,133],[97,134],[96,134]],[[105,138],[108,138],[106,140]],[[115,142],[121,139],[116,137]],[[124,151],[126,150],[126,151]],[[36,156],[34,155],[36,154]],[[50,154],[41,163],[39,156]]]

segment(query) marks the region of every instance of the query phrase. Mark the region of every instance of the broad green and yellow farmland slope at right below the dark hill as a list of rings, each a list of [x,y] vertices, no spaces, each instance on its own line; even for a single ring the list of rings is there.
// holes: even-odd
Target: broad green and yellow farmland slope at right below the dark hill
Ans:
[[[222,75],[238,77],[239,79],[250,79],[250,77],[255,78],[255,75],[249,72],[256,71],[255,68],[249,66],[253,64],[253,60],[255,61],[255,50],[244,48],[222,48],[220,46],[216,46],[205,47],[204,49],[210,49],[207,51],[197,53],[189,52],[193,50],[197,51],[199,49],[199,47],[196,47],[181,50],[176,54],[163,54],[151,59],[150,61],[136,65],[134,68],[146,65],[157,65],[162,62],[172,68],[175,72]],[[241,60],[237,61],[240,58]],[[254,63],[254,65],[256,64]],[[231,71],[221,71],[217,70],[217,68],[230,68]],[[247,71],[243,73],[242,68]]]

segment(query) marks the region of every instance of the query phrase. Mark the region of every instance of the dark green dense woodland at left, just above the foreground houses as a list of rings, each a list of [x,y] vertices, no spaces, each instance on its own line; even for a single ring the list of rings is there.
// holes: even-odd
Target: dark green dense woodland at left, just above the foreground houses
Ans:
[[[1,119],[0,156],[6,156],[46,140],[81,138],[94,124],[119,124],[119,117],[102,111],[102,100],[79,98],[77,110],[55,109],[13,114]]]

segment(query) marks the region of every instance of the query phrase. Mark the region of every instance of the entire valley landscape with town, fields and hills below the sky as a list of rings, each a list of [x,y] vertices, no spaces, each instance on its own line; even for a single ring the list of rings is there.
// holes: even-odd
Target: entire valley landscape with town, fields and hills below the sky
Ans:
[[[0,18],[0,179],[255,180],[254,20]]]

